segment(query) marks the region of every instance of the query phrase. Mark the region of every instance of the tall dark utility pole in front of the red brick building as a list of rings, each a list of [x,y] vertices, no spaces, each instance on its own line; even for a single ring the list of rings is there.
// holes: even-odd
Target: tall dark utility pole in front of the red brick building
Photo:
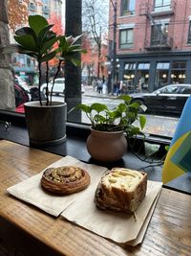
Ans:
[[[113,23],[113,47],[112,47],[112,86],[111,93],[114,93],[114,83],[116,81],[116,65],[117,65],[117,0],[115,3],[110,0],[114,10],[114,23]]]

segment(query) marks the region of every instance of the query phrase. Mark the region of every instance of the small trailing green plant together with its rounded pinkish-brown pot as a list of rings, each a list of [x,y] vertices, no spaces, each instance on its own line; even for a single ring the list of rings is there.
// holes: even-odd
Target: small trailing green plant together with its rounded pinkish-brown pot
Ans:
[[[86,145],[89,153],[98,161],[120,159],[127,151],[128,139],[140,133],[146,124],[145,116],[139,114],[145,110],[144,105],[133,103],[129,95],[121,95],[117,99],[122,102],[114,109],[99,103],[74,107],[83,111],[91,122],[91,134]]]

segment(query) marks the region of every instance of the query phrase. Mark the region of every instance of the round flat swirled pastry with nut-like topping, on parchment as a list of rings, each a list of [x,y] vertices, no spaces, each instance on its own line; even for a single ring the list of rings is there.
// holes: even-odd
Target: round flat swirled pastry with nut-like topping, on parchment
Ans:
[[[55,194],[68,195],[84,190],[90,184],[88,172],[74,166],[49,168],[44,171],[41,186]]]

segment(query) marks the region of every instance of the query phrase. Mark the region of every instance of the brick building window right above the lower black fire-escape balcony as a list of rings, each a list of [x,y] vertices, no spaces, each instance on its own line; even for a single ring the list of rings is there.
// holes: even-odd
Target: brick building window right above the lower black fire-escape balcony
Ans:
[[[156,24],[151,29],[151,46],[166,45],[168,40],[168,24]]]

